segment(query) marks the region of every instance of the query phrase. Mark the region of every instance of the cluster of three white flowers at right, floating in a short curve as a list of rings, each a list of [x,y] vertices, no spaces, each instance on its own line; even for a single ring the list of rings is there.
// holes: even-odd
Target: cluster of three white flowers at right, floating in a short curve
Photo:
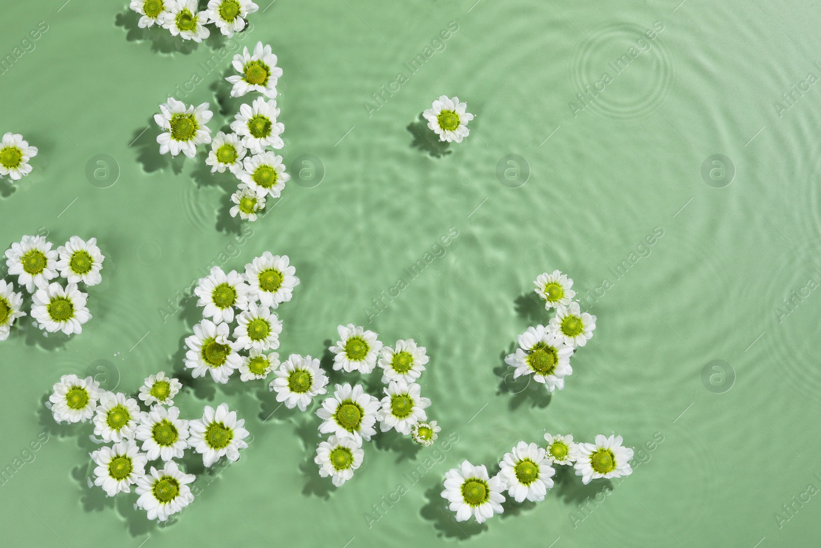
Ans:
[[[563,389],[565,377],[573,373],[570,358],[576,348],[585,346],[593,337],[596,316],[582,312],[579,303],[572,301],[576,297],[571,289],[573,280],[558,270],[540,274],[534,283],[545,308],[555,308],[556,315],[548,325],[529,327],[519,335],[519,348],[508,354],[505,362],[514,368],[514,379],[533,375],[536,382],[553,392]]]

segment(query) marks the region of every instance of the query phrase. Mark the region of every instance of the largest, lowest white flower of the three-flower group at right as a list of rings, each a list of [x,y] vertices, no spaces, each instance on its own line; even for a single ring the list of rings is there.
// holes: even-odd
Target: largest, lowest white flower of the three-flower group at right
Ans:
[[[564,388],[564,378],[573,373],[570,357],[573,348],[562,343],[544,325],[529,327],[519,335],[516,352],[505,357],[505,363],[513,367],[513,378],[533,375],[536,382],[548,387],[548,391]]]

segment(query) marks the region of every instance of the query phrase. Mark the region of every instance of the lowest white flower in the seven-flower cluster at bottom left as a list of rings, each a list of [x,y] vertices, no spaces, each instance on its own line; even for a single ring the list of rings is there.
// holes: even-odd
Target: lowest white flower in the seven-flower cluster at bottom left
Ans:
[[[148,512],[149,519],[166,521],[194,500],[188,486],[196,479],[194,474],[182,472],[175,462],[165,463],[162,470],[151,471],[137,478],[137,507]]]

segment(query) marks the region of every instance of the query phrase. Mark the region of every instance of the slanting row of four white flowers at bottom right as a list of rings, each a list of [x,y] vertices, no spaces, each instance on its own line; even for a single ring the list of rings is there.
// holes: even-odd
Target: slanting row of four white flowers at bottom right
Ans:
[[[442,496],[456,513],[456,521],[473,516],[478,523],[503,513],[507,496],[517,503],[544,500],[553,487],[554,466],[573,466],[587,485],[601,478],[629,476],[633,449],[621,445],[620,435],[597,435],[595,443],[576,443],[572,435],[545,434],[544,447],[520,441],[499,463],[499,472],[488,476],[487,468],[468,461],[445,474]]]

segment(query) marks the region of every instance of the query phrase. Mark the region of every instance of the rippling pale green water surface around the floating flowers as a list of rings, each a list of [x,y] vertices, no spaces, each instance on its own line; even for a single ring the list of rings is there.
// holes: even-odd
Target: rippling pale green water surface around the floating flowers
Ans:
[[[3,544],[818,541],[821,86],[808,75],[821,75],[821,17],[810,2],[263,0],[236,44],[262,40],[279,58],[294,180],[250,224],[227,215],[230,176],[212,176],[202,156],[160,157],[149,125],[177,86],[200,80],[177,96],[209,101],[214,132],[227,122],[240,103],[222,81],[230,58],[200,63],[231,44],[211,27],[213,39],[180,48],[136,29],[125,2],[62,2],[3,7],[0,56],[19,58],[0,75],[0,131],[22,133],[39,155],[30,177],[0,182],[0,240],[94,236],[106,260],[82,334],[43,338],[24,318],[0,344],[0,468],[14,470],[0,485]],[[48,30],[21,44],[40,21]],[[408,71],[452,21],[458,30],[433,44],[443,51]],[[644,51],[617,74],[608,63],[635,44]],[[580,103],[605,71],[612,81]],[[377,104],[382,85],[395,92]],[[440,94],[476,115],[461,145],[433,144],[418,122]],[[452,228],[458,237],[434,248]],[[374,298],[438,249],[369,322]],[[415,338],[431,358],[420,380],[429,417],[440,441],[457,441],[434,452],[380,436],[333,489],[312,462],[315,415],[277,409],[267,383],[237,374],[178,397],[190,418],[229,403],[254,440],[216,477],[200,474],[201,494],[174,523],[149,523],[133,493],[89,490],[92,428],[53,423],[42,405],[51,385],[90,374],[133,392],[151,373],[181,371],[198,315],[186,290],[213,262],[241,269],[263,251],[290,256],[301,279],[280,309],[283,357],[322,356],[340,323],[388,344]],[[598,328],[566,389],[547,398],[512,383],[502,357],[548,320],[532,280],[553,269],[575,280]],[[463,458],[493,468],[545,430],[621,434],[638,465],[618,484],[562,475],[544,502],[483,527],[442,511],[447,469]],[[48,441],[32,452],[38,436]],[[414,470],[424,474],[412,482]],[[369,523],[374,504],[386,510]]]

